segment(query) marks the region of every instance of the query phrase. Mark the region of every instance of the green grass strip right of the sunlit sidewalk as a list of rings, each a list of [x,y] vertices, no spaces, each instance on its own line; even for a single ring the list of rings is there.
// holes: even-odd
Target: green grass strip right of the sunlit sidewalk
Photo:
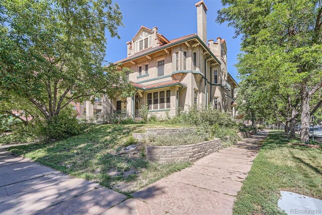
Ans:
[[[281,131],[268,134],[238,192],[233,214],[283,214],[277,209],[280,190],[322,199],[322,149],[291,142],[299,140]]]

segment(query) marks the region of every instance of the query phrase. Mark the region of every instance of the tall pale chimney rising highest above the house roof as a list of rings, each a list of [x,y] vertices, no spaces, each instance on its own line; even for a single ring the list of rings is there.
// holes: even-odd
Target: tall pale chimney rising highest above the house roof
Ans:
[[[207,44],[207,6],[201,0],[196,3],[197,7],[197,34],[199,38]]]

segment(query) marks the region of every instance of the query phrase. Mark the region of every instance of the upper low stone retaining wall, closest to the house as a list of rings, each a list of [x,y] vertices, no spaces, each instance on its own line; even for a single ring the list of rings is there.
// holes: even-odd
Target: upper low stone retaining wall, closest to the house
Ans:
[[[195,131],[196,128],[146,128],[145,133],[132,133],[132,136],[138,140],[142,140],[148,137],[149,134],[152,135],[164,135],[164,134],[172,134],[178,132],[187,132],[187,131]]]

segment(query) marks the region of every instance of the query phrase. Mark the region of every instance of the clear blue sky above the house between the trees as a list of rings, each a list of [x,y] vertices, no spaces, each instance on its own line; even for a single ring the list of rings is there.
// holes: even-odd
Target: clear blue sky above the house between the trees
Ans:
[[[175,39],[188,34],[197,33],[197,11],[195,1],[134,1],[117,0],[125,27],[120,27],[118,33],[121,39],[111,38],[108,34],[105,60],[115,62],[126,57],[126,42],[136,34],[143,25],[148,28],[156,26],[158,33],[167,39]],[[226,24],[219,25],[215,22],[217,11],[222,8],[219,0],[204,0],[207,11],[207,38],[216,40],[224,38],[227,42],[228,72],[237,79],[237,71],[233,66],[237,62],[240,39],[233,39],[234,30]]]

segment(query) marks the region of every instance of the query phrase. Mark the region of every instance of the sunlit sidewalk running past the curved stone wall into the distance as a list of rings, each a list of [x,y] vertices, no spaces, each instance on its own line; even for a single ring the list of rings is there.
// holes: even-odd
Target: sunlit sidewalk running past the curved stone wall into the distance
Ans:
[[[231,214],[242,181],[268,130],[213,153],[161,179],[103,214]]]

